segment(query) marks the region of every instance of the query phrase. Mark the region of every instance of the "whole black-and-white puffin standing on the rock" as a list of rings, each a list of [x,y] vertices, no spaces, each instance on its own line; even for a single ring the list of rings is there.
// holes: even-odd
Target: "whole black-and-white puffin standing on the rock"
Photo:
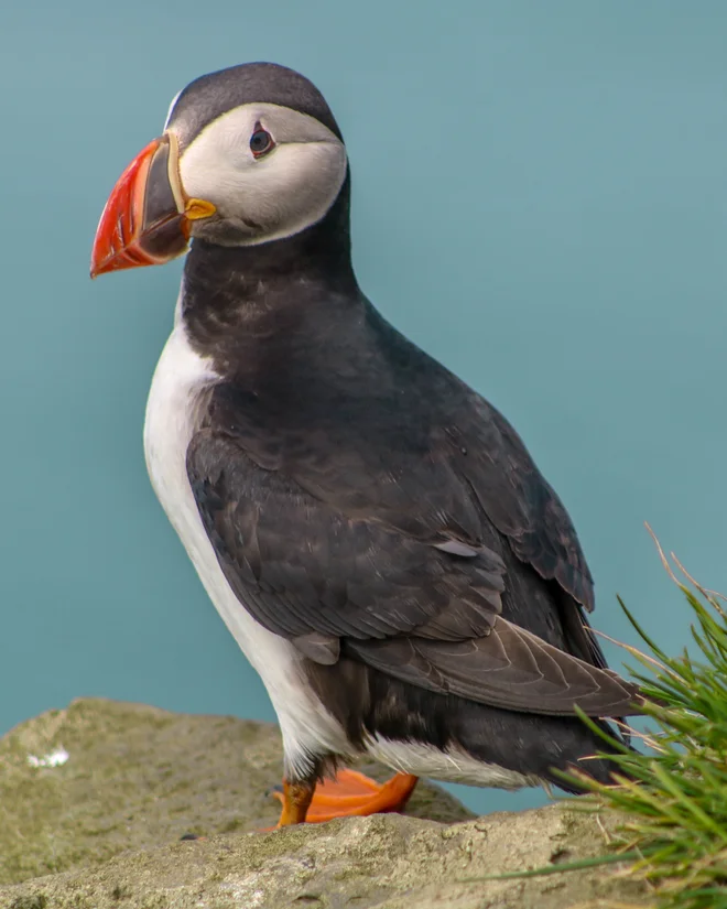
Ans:
[[[504,416],[359,288],[350,185],[321,91],[232,66],[174,98],[91,253],[93,278],[187,253],[145,459],[276,713],[279,826],[399,811],[420,777],[610,784],[643,702],[589,625],[573,523]]]

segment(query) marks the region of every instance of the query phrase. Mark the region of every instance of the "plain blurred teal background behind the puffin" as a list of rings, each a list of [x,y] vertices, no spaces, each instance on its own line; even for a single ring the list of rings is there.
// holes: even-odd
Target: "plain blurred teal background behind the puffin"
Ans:
[[[725,46],[719,0],[9,4],[0,732],[77,695],[273,718],[145,476],[181,266],[88,280],[106,197],[174,94],[251,59],[328,98],[364,288],[524,436],[598,627],[634,641],[619,592],[676,651],[686,610],[643,521],[727,588]]]

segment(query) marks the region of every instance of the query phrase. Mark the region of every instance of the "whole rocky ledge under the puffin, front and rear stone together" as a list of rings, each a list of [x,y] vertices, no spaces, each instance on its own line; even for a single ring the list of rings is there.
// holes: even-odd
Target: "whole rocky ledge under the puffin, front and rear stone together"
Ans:
[[[25,883],[0,887],[0,909],[645,905],[612,866],[468,883],[603,851],[603,824],[567,804],[463,821],[456,800],[422,786],[419,818],[250,832],[274,823],[264,793],[279,776],[265,724],[99,700],[22,724],[0,739],[0,880]]]

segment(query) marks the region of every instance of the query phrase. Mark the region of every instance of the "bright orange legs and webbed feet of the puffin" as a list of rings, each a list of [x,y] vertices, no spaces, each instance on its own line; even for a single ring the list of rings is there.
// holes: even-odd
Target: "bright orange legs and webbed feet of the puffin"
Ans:
[[[381,784],[357,770],[339,770],[335,779],[318,783],[315,791],[307,783],[283,782],[283,791],[273,792],[283,805],[278,826],[401,811],[416,781],[411,773],[397,773]]]

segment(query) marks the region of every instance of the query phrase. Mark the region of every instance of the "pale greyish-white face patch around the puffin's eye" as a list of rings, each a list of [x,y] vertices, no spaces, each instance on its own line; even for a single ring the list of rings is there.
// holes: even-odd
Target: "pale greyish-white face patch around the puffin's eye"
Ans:
[[[270,149],[260,153],[265,133]],[[343,142],[315,118],[271,104],[234,108],[180,156],[186,195],[217,208],[192,223],[192,236],[252,246],[299,234],[334,204],[346,166]]]

